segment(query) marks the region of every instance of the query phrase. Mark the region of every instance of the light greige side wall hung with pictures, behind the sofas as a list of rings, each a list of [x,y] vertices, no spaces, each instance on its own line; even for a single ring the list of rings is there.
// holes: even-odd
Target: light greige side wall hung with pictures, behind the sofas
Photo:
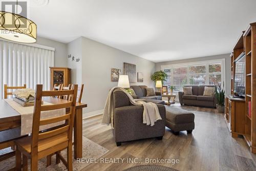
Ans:
[[[81,42],[81,44],[80,44]],[[79,45],[80,44],[80,45]],[[81,54],[79,50],[81,49]],[[99,111],[104,108],[105,100],[111,88],[117,82],[111,82],[111,68],[121,69],[123,62],[136,65],[136,72],[144,74],[144,82],[131,83],[154,87],[150,76],[155,72],[155,63],[138,56],[123,52],[100,42],[79,37],[68,44],[68,53],[80,58],[79,62],[68,61],[68,67],[81,73],[81,82],[84,84],[82,101],[88,104],[83,113]],[[81,66],[81,68],[79,68]],[[73,83],[78,83],[79,78],[72,77]]]

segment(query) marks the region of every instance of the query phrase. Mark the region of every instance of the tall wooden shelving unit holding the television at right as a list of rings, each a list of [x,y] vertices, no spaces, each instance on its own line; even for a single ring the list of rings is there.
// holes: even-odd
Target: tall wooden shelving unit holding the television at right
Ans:
[[[244,99],[244,112],[236,114],[235,104],[232,106],[234,99],[226,96],[226,121],[233,121],[229,123],[231,127],[232,137],[243,135],[246,143],[251,149],[252,153],[256,153],[256,23],[251,23],[246,31],[240,35],[231,58],[231,95],[234,95],[234,60],[242,53],[245,52],[245,99]],[[248,103],[251,103],[251,111],[249,111]],[[242,104],[242,103],[241,103]],[[229,111],[227,111],[229,110]],[[251,113],[251,116],[248,113]],[[241,117],[243,116],[243,117]],[[232,125],[233,124],[233,125]],[[238,130],[239,127],[239,131]]]

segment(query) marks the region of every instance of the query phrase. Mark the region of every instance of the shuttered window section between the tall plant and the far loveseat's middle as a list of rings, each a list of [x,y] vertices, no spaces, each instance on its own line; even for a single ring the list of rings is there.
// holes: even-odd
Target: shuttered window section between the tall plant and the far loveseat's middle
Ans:
[[[174,68],[173,79],[173,86],[176,91],[183,90],[183,86],[187,84],[187,67]]]

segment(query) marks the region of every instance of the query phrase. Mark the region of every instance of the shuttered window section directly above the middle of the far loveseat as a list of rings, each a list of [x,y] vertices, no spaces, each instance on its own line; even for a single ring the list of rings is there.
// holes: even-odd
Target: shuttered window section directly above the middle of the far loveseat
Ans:
[[[206,66],[190,66],[188,67],[189,84],[205,84],[206,82]]]

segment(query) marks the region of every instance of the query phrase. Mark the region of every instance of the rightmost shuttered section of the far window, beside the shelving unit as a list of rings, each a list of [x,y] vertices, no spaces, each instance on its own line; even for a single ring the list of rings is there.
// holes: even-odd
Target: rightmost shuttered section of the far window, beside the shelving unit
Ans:
[[[209,84],[221,84],[221,63],[209,65]]]

